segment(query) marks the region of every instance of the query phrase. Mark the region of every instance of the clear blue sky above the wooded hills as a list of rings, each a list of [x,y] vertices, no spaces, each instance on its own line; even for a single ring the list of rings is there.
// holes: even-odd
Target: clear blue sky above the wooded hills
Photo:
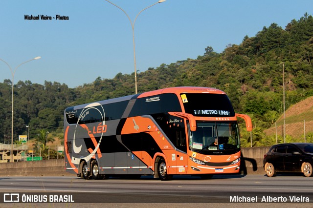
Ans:
[[[157,0],[111,0],[134,21]],[[166,0],[143,11],[134,25],[137,70],[222,52],[264,26],[282,28],[303,14],[312,0]],[[24,15],[67,16],[69,20],[24,20]],[[131,23],[105,0],[0,0],[0,59],[14,70],[14,83],[66,83],[76,87],[97,77],[134,72]],[[0,82],[12,80],[0,62]]]

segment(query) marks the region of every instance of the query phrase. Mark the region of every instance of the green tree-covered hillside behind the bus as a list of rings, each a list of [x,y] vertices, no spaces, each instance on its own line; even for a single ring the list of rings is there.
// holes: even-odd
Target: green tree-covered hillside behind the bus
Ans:
[[[276,23],[260,26],[254,37],[245,36],[240,44],[229,44],[222,53],[215,52],[211,46],[203,48],[204,53],[197,59],[162,63],[138,71],[138,93],[172,86],[221,89],[237,113],[252,118],[253,146],[276,143],[271,129],[276,121],[278,126],[281,122],[284,88],[286,123],[300,126],[303,120],[310,122],[312,107],[303,104],[301,110],[292,109],[313,96],[312,15],[305,13],[284,26]],[[11,90],[11,80],[0,83],[1,143],[9,141],[11,135]],[[47,131],[49,137],[62,139],[64,110],[68,106],[131,95],[134,91],[134,73],[117,72],[113,79],[98,77],[93,83],[75,88],[69,88],[66,83],[45,81],[42,85],[18,81],[14,84],[14,141],[27,132],[25,126],[29,126],[31,139],[42,138],[44,143]],[[307,125],[308,136],[312,133],[310,125]],[[241,129],[242,146],[250,146],[251,135]],[[286,128],[286,132],[287,129],[291,128]],[[304,134],[295,133],[298,131],[288,131],[288,140],[303,140]]]

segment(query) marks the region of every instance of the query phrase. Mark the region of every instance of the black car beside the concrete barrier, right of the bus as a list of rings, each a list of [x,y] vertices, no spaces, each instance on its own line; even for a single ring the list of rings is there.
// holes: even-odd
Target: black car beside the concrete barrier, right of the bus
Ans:
[[[273,145],[264,155],[263,167],[272,177],[276,172],[303,172],[307,177],[312,176],[313,144],[285,143]]]

